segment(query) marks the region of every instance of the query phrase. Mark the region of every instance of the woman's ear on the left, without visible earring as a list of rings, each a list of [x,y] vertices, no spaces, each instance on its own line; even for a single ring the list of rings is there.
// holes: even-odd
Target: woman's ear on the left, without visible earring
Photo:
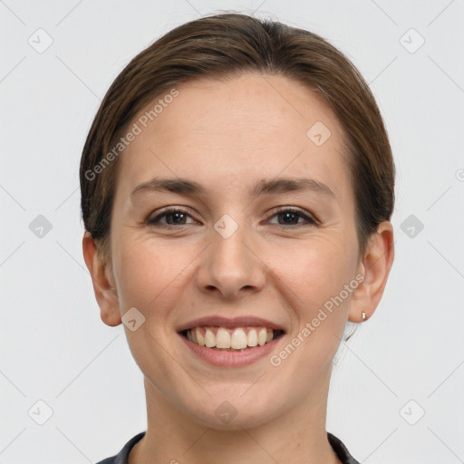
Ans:
[[[111,273],[111,269],[103,262],[91,234],[87,231],[82,238],[82,252],[85,264],[92,275],[93,291],[100,306],[102,321],[111,327],[121,324],[118,294],[106,275]]]

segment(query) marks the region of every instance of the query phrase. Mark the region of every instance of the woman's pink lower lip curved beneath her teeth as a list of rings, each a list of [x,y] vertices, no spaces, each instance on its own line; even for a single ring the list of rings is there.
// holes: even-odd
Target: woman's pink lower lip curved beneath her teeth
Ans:
[[[226,350],[217,350],[215,348],[208,348],[206,346],[200,346],[197,343],[190,342],[186,337],[179,333],[179,337],[186,343],[189,349],[196,354],[199,358],[219,367],[240,367],[246,366],[256,362],[272,352],[275,345],[283,337],[276,338],[272,342],[265,343],[263,346],[254,346],[253,348],[247,348],[243,352],[228,352]]]

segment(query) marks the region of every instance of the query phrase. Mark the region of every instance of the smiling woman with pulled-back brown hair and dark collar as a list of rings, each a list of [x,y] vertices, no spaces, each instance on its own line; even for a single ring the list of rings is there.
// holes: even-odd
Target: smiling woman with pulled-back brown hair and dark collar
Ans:
[[[356,463],[327,394],[391,269],[393,183],[372,93],[318,35],[218,14],[136,56],[81,163],[85,262],[147,401],[102,463]]]

